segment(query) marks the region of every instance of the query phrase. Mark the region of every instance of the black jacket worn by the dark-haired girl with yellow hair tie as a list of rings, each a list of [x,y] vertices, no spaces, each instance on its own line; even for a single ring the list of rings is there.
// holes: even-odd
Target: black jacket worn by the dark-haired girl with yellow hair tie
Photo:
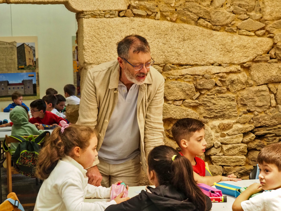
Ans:
[[[105,211],[193,211],[195,205],[186,199],[172,185],[160,185],[157,188],[147,187],[151,193],[142,190],[141,193],[120,204],[110,205]],[[206,210],[212,208],[212,202],[206,197]],[[200,210],[201,211],[201,210]]]

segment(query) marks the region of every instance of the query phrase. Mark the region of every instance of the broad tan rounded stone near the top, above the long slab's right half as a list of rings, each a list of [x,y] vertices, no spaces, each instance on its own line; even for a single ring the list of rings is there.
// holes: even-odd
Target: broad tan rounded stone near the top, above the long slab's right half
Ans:
[[[228,25],[235,18],[235,15],[233,13],[229,13],[223,8],[212,10],[210,12],[210,15],[211,15],[211,24],[215,26]]]

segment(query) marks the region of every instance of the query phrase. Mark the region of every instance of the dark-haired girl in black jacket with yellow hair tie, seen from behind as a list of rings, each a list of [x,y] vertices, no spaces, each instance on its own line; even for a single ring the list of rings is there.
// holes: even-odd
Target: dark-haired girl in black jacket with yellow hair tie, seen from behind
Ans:
[[[111,205],[106,211],[205,211],[212,203],[197,186],[191,163],[174,148],[157,146],[148,155],[147,176],[155,188],[147,186],[146,191],[126,202]]]

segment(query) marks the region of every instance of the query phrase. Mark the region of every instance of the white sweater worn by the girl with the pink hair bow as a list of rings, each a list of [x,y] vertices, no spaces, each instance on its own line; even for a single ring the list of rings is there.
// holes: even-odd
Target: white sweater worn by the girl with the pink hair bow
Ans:
[[[103,211],[110,202],[86,203],[85,198],[110,198],[110,188],[88,184],[86,170],[69,156],[60,159],[44,180],[34,211]]]

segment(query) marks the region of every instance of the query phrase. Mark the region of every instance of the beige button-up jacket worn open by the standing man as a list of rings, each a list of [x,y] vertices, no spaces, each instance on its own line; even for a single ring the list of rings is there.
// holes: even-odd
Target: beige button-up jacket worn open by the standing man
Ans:
[[[117,60],[102,63],[88,71],[82,87],[79,118],[76,124],[95,127],[101,148],[111,114],[118,101],[120,66]],[[150,68],[145,83],[139,88],[137,121],[141,134],[140,151],[143,170],[146,172],[147,155],[163,142],[162,111],[164,103],[164,78]],[[124,118],[126,121],[126,117]],[[94,165],[98,164],[98,159]]]

